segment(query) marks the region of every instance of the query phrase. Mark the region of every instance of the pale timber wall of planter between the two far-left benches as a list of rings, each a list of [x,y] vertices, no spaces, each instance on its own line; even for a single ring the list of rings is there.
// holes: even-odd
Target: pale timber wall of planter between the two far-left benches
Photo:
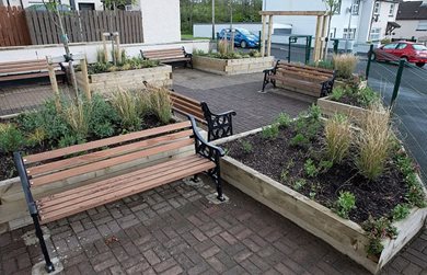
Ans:
[[[76,73],[80,88],[84,87],[84,78],[81,71]],[[89,76],[89,87],[92,92],[108,93],[122,89],[141,89],[143,81],[154,87],[172,87],[172,67],[161,65],[152,68],[137,70],[102,72]]]

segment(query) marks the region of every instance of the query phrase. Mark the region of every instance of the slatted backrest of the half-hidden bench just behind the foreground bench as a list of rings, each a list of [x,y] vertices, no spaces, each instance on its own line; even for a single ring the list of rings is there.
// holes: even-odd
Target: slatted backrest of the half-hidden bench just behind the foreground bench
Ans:
[[[201,110],[200,102],[195,101],[191,98],[187,98],[185,95],[175,93],[173,91],[170,91],[169,93],[171,101],[172,101],[172,108],[173,111],[182,114],[182,115],[193,115],[196,121],[198,121],[201,124],[207,124],[205,121],[205,115]]]

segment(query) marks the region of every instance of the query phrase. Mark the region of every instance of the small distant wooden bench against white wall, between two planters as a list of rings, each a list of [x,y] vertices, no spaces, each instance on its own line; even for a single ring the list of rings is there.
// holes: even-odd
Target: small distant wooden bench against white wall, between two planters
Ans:
[[[141,57],[148,60],[158,60],[162,64],[184,62],[193,69],[193,55],[187,54],[185,48],[140,50]]]

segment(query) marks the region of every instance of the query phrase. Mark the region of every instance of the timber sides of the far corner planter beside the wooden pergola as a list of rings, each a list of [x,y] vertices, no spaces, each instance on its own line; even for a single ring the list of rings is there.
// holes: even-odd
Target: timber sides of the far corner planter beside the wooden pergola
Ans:
[[[274,57],[251,57],[241,59],[219,59],[206,56],[194,56],[193,66],[195,69],[222,75],[242,75],[262,72],[273,67]]]

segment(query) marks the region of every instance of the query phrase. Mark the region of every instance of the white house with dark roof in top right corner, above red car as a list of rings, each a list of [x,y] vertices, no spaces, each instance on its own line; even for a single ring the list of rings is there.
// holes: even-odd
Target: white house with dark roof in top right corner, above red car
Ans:
[[[405,1],[399,5],[393,38],[415,38],[427,42],[427,1]]]

